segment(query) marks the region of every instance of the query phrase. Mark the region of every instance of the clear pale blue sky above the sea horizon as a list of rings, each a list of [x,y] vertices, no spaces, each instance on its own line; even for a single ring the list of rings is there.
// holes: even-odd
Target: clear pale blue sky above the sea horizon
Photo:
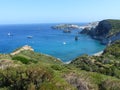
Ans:
[[[0,24],[120,19],[120,0],[0,0]]]

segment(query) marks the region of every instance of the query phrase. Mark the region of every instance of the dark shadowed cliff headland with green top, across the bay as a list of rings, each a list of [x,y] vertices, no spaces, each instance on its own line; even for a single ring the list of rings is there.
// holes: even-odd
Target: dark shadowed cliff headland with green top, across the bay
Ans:
[[[120,40],[120,20],[103,20],[95,28],[85,28],[81,33],[100,40],[102,44],[109,44]]]

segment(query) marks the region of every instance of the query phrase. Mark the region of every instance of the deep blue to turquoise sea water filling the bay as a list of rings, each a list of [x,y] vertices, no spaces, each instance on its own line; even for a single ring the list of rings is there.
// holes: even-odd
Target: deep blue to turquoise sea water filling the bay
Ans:
[[[105,48],[99,41],[77,34],[78,30],[63,33],[61,30],[51,29],[52,25],[56,24],[0,25],[0,53],[10,53],[18,47],[30,45],[36,52],[67,62],[82,54],[92,55]],[[8,36],[8,33],[13,36]],[[28,39],[29,35],[33,38]],[[74,40],[76,35],[79,36],[78,41]]]

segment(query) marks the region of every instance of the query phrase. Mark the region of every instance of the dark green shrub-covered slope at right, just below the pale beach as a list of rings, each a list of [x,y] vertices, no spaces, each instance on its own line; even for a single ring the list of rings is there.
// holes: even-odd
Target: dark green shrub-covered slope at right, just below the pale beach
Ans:
[[[108,46],[102,56],[83,55],[71,62],[82,70],[120,78],[120,41]]]

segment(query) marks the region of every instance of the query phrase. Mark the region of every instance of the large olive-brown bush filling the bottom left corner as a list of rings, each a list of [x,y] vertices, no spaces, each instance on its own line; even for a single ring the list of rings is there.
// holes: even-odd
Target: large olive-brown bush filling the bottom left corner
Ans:
[[[0,70],[0,87],[9,90],[39,90],[44,82],[50,82],[52,71],[38,65],[28,65]],[[0,88],[1,90],[1,88]]]

